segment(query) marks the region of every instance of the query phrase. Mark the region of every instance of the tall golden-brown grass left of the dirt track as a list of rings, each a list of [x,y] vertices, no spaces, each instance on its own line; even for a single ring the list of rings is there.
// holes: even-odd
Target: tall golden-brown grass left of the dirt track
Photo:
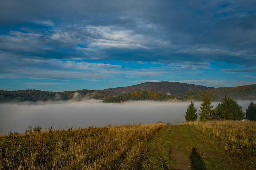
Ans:
[[[0,169],[138,169],[163,123],[0,137]]]

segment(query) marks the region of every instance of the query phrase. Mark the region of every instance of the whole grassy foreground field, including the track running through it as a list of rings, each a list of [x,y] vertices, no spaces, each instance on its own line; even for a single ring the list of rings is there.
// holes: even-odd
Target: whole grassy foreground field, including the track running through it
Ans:
[[[155,123],[0,136],[0,169],[255,169],[255,122]],[[177,154],[178,153],[178,154]]]

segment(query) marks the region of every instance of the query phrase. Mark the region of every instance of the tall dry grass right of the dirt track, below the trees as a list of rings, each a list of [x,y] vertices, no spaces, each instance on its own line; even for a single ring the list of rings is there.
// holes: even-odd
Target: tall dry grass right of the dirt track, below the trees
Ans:
[[[188,122],[188,125],[209,136],[222,148],[238,155],[242,162],[250,161],[256,167],[256,122],[205,121]]]

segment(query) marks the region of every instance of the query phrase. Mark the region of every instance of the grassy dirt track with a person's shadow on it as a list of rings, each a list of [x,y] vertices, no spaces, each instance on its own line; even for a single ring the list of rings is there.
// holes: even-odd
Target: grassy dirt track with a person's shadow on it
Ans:
[[[221,147],[187,125],[176,125],[174,128],[171,156],[175,165],[170,165],[171,169],[245,169],[227,157]]]

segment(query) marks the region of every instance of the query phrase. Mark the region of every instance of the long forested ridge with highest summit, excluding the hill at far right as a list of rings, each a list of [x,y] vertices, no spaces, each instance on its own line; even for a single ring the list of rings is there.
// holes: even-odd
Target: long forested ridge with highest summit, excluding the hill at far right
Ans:
[[[177,82],[148,82],[133,86],[117,87],[104,90],[76,90],[65,92],[48,92],[40,90],[17,90],[0,91],[0,102],[10,101],[52,101],[52,100],[81,100],[84,98],[94,98],[105,100],[108,98],[130,94],[138,91],[155,92],[158,94],[178,94],[193,90],[213,89],[212,87],[200,86],[195,84],[177,83]]]

